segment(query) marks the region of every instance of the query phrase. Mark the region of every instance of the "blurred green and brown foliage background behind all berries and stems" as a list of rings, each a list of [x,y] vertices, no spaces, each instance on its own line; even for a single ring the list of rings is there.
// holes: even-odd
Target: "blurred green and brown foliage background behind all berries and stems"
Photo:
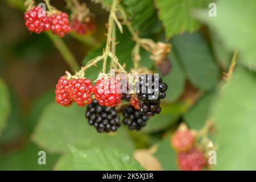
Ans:
[[[56,81],[70,70],[46,34],[26,30],[23,2],[0,2],[0,169],[143,170],[147,167],[133,158],[134,152],[157,146],[153,156],[162,169],[178,170],[170,135],[180,122],[199,130],[209,119],[218,146],[213,169],[256,169],[256,1],[214,1],[217,16],[210,17],[212,1],[123,0],[141,37],[172,44],[172,71],[163,76],[169,89],[162,113],[140,132],[122,126],[112,135],[90,127],[85,108],[55,103]],[[85,2],[96,14],[97,32],[64,38],[81,64],[101,55],[112,3]],[[52,3],[65,10],[64,1]],[[125,27],[117,40],[117,56],[130,69],[135,43]],[[233,77],[223,80],[235,50]],[[142,65],[158,72],[148,52],[141,50],[141,56]],[[86,76],[95,80],[100,68],[90,68]],[[46,166],[38,165],[40,150],[47,152]]]

